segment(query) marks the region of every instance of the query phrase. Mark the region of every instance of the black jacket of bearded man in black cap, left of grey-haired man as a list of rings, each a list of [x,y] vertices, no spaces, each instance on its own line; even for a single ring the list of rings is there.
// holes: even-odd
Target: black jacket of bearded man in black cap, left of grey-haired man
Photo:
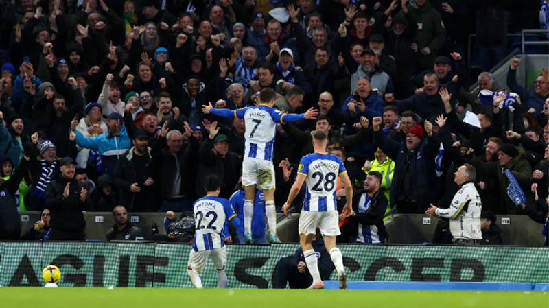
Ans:
[[[132,147],[124,156],[120,156],[116,163],[115,172],[113,173],[113,181],[120,190],[120,200],[118,204],[132,212],[153,212],[156,211],[158,202],[156,193],[152,187],[145,186],[143,183],[138,183],[139,187],[141,187],[141,191],[139,193],[132,193],[132,191],[130,191],[130,186],[137,182],[135,173],[136,166],[133,160],[135,157],[134,149],[135,147]],[[149,158],[148,164],[139,167],[145,169],[145,172],[150,174],[149,177],[152,178],[152,165],[150,164],[152,156],[150,156],[149,148],[146,155]],[[154,180],[154,183],[156,182],[158,181]],[[134,208],[135,198],[143,198],[146,200],[145,204],[147,204],[147,206],[143,209]]]

